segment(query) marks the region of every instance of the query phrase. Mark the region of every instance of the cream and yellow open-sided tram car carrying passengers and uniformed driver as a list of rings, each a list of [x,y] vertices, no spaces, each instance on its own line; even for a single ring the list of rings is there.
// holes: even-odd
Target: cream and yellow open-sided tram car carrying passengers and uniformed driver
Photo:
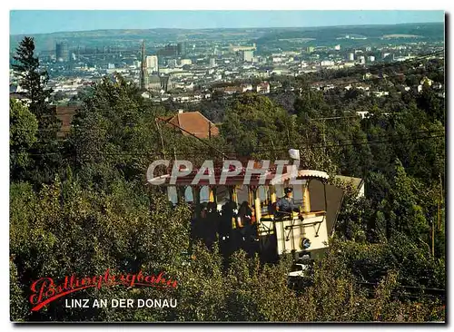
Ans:
[[[176,179],[172,179],[170,172],[159,177],[148,174],[147,181],[166,186],[174,203],[192,202],[192,235],[203,239],[207,246],[217,239],[224,255],[242,248],[249,255],[259,253],[262,262],[274,262],[284,253],[291,253],[294,261],[299,262],[301,258],[310,258],[313,253],[319,255],[328,248],[342,190],[327,183],[329,175],[326,172],[298,170],[293,165],[286,165],[284,171],[277,174],[273,165],[262,179],[261,174],[252,173],[249,183],[244,184],[247,170],[242,168],[237,175],[224,178],[224,184],[220,184],[222,171],[225,170],[213,169],[215,181],[205,178],[195,185],[192,183],[199,170]],[[299,211],[278,216],[276,202],[286,187],[293,189]],[[337,190],[334,196],[331,190],[331,197],[327,198],[327,187]],[[312,193],[315,193],[314,197],[311,197]],[[243,208],[251,209],[251,218],[246,221],[242,219]]]

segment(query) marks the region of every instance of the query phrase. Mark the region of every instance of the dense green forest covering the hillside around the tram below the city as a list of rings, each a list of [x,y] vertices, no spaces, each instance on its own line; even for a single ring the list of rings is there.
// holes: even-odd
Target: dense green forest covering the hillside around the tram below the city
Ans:
[[[46,102],[51,92],[34,49],[25,38],[14,68],[31,103],[10,101],[12,320],[445,320],[445,102],[429,84],[420,93],[401,92],[394,79],[376,79],[369,84],[392,83],[390,95],[379,98],[356,88],[315,90],[314,77],[303,75],[288,83],[293,91],[199,105],[220,123],[221,135],[210,142],[217,150],[275,160],[300,149],[304,167],[365,181],[363,198],[345,188],[330,249],[311,285],[295,292],[287,287],[291,259],[262,265],[240,250],[225,264],[216,248],[190,238],[188,205],[173,207],[161,190],[144,185],[158,158],[195,164],[219,158],[202,142],[156,124],[175,105],[153,104],[121,76],[106,77],[84,93],[69,137],[57,140],[60,124]],[[427,76],[444,83],[442,62],[405,65],[387,70],[406,73],[409,82]],[[74,298],[171,297],[178,306],[77,309],[57,301],[30,311],[37,278],[106,269],[165,270],[179,285],[89,288]]]

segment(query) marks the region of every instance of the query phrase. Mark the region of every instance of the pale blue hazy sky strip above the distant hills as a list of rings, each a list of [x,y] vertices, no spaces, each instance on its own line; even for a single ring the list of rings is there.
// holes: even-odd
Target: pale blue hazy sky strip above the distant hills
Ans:
[[[96,29],[296,27],[443,22],[443,11],[11,11],[10,34]]]

